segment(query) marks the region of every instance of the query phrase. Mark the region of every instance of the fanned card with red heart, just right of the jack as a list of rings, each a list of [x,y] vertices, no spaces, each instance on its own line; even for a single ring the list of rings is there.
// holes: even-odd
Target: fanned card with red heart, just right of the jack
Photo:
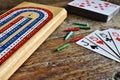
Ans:
[[[101,47],[104,50],[107,50],[109,53],[111,53],[112,55],[114,55],[114,57],[116,58],[120,58],[119,55],[117,55],[117,53],[111,49],[110,47],[108,47],[104,41],[102,41],[101,39],[99,39],[98,36],[96,36],[95,33],[99,32],[99,30],[94,31],[93,33],[89,34],[88,36],[86,36],[87,39],[89,39],[90,41],[92,41],[93,43],[95,43],[97,46]]]

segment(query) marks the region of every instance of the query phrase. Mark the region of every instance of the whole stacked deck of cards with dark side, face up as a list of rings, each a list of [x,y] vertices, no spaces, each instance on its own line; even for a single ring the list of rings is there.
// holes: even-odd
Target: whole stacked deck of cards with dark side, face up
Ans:
[[[120,6],[101,0],[74,0],[68,3],[68,11],[81,16],[107,22],[120,11]]]

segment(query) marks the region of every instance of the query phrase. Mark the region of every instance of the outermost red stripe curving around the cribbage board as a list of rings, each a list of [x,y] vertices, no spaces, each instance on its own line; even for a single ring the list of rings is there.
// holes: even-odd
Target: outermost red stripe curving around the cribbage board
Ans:
[[[25,8],[34,8],[34,9],[39,9],[39,10],[43,10],[45,12],[48,13],[48,18],[42,22],[36,29],[34,29],[29,35],[27,35],[23,40],[21,40],[15,47],[13,47],[6,55],[4,55],[1,59],[0,59],[0,65],[2,63],[4,63],[13,53],[15,53],[21,46],[23,46],[25,44],[25,42],[27,42],[34,34],[36,34],[47,22],[49,22],[52,17],[53,14],[46,9],[43,8],[36,8],[36,7],[24,7],[24,8],[16,8],[10,11],[10,13],[16,11],[16,10],[20,10],[20,9],[25,9]],[[7,12],[9,13],[9,12]],[[9,14],[10,14],[9,13]]]

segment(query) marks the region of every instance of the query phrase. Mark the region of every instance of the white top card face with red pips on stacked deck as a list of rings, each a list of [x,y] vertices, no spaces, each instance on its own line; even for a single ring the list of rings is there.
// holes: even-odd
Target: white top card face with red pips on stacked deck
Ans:
[[[101,0],[74,0],[73,2],[69,3],[69,5],[105,15],[110,15],[120,8],[120,6],[116,4]]]

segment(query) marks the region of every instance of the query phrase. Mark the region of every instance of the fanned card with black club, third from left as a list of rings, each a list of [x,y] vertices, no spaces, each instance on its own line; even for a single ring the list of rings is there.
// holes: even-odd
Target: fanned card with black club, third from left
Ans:
[[[107,29],[107,30],[104,30],[104,31],[97,31],[95,33],[95,35],[99,39],[101,39],[102,41],[104,41],[105,45],[107,45],[111,50],[113,50],[115,52],[115,54],[117,56],[120,57],[120,52],[119,52],[117,46],[115,45],[112,37],[108,33],[109,30],[113,30],[113,29]]]

